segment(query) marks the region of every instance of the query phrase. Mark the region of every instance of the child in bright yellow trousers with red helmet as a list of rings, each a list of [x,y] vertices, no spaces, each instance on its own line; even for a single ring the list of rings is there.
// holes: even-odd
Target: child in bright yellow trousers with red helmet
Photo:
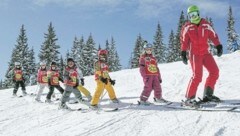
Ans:
[[[91,101],[91,108],[98,108],[99,97],[103,93],[103,90],[106,89],[108,95],[113,103],[119,103],[116,98],[114,89],[112,85],[115,84],[115,80],[112,80],[109,76],[108,64],[107,64],[107,50],[99,50],[98,51],[98,61],[94,63],[95,70],[95,81],[97,82],[96,91],[93,95],[93,99]]]

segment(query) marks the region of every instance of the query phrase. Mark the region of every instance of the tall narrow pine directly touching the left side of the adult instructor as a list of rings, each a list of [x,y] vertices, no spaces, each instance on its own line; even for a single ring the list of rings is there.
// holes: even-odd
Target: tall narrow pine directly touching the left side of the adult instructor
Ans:
[[[175,58],[175,61],[179,61],[181,60],[181,42],[180,42],[180,33],[181,33],[181,29],[182,26],[184,25],[184,23],[186,22],[185,17],[184,17],[184,12],[182,11],[179,17],[179,21],[178,21],[178,28],[177,28],[177,32],[175,35],[175,42],[174,42],[174,53],[175,55],[173,56]]]

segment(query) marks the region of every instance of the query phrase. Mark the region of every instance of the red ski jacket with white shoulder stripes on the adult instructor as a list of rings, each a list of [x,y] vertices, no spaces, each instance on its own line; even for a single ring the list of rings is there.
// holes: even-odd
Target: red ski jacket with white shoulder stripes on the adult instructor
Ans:
[[[208,40],[211,40],[215,46],[219,45],[219,39],[211,25],[201,19],[200,24],[192,24],[186,22],[181,31],[181,50],[189,50],[190,53],[196,55],[204,55],[209,53]]]

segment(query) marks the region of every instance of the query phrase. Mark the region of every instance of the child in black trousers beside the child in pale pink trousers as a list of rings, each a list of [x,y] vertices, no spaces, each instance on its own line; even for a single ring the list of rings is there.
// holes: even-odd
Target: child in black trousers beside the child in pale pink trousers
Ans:
[[[48,86],[49,86],[49,92],[46,97],[47,103],[51,103],[51,96],[54,92],[54,88],[57,88],[58,91],[63,94],[64,90],[59,85],[59,81],[63,82],[62,78],[60,77],[59,71],[57,70],[57,64],[56,62],[52,62],[50,69],[47,71],[47,77],[48,77]]]

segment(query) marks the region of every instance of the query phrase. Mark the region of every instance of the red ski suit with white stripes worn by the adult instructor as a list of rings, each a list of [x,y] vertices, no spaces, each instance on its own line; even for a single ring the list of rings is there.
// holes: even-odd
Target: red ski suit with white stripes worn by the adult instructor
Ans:
[[[186,98],[195,98],[198,85],[202,81],[203,66],[209,72],[205,88],[209,86],[214,90],[219,77],[219,69],[212,54],[208,51],[208,40],[211,40],[215,46],[219,45],[220,42],[216,32],[205,19],[201,19],[199,25],[187,22],[182,27],[180,37],[181,50],[189,51],[189,61],[193,71]]]

